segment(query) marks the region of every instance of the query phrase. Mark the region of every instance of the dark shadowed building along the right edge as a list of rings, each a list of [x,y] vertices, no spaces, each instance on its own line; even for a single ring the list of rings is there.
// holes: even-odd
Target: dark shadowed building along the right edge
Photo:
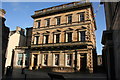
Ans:
[[[120,1],[103,2],[106,29],[103,31],[103,66],[108,80],[120,80]]]

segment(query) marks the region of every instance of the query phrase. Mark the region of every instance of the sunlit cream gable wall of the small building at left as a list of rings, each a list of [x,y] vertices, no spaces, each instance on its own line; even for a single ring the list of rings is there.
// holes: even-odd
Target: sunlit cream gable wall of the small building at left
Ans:
[[[15,32],[13,35],[9,36],[5,67],[11,66],[12,50],[15,49],[15,46],[23,45],[25,45],[25,36],[21,35],[19,32]]]

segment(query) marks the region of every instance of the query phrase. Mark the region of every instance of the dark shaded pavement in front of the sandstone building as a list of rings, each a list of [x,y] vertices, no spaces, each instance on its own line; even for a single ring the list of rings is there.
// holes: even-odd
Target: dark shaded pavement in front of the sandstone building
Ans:
[[[21,74],[20,68],[13,69],[10,76],[4,76],[3,80],[52,80],[48,73],[62,75],[65,80],[107,80],[107,75],[104,73],[53,73],[45,70],[28,70],[26,69],[24,74]],[[62,79],[53,79],[62,80]]]

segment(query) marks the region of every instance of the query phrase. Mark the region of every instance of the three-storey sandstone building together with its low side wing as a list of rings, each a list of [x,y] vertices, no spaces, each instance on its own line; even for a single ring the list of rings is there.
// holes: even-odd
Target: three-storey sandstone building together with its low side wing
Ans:
[[[72,2],[38,10],[32,18],[31,43],[16,47],[14,67],[22,53],[27,58],[23,58],[21,66],[28,61],[30,70],[94,72],[97,66],[96,23],[91,3]]]

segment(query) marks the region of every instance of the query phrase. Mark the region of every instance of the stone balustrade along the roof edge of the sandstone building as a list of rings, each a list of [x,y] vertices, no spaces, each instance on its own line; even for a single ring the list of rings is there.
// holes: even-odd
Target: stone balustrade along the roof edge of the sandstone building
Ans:
[[[76,6],[76,5],[85,3],[85,2],[86,2],[86,0],[82,0],[82,1],[79,1],[79,2],[72,2],[72,3],[68,3],[68,4],[63,4],[63,5],[60,5],[60,6],[50,7],[50,8],[35,11],[35,14],[39,14],[39,13],[46,12],[46,11],[51,11],[51,10],[62,9],[62,8],[66,8],[66,7],[71,7],[71,6]]]

